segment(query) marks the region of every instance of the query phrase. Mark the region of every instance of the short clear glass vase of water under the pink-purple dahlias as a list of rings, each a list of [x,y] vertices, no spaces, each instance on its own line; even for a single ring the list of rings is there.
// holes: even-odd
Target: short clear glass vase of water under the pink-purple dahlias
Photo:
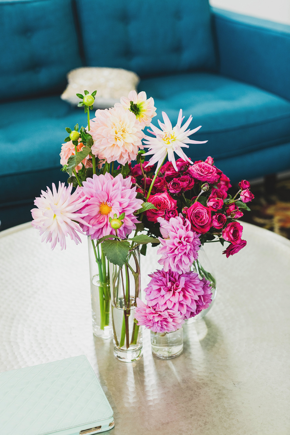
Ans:
[[[161,359],[175,358],[183,351],[183,329],[173,332],[153,332],[151,335],[151,349],[153,355]]]

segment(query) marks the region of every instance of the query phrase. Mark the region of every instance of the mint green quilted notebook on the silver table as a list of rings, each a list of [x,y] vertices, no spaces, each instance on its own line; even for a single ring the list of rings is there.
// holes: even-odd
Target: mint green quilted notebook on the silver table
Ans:
[[[93,435],[113,425],[84,355],[0,373],[1,435]]]

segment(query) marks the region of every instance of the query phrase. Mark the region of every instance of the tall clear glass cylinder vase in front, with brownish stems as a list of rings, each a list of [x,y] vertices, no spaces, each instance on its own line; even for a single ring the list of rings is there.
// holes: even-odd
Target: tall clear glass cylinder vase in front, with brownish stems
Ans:
[[[124,362],[137,361],[142,357],[142,328],[135,319],[136,299],[141,297],[139,246],[129,251],[123,267],[109,265],[114,356]]]

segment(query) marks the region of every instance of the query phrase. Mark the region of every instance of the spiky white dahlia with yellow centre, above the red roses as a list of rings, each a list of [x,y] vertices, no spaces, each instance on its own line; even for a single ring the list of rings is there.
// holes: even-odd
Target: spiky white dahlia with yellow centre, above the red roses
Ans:
[[[144,142],[145,147],[149,148],[149,151],[147,151],[146,154],[153,154],[153,156],[150,158],[148,165],[153,165],[156,162],[157,168],[155,173],[158,171],[160,166],[162,165],[165,157],[168,154],[168,160],[173,164],[173,167],[175,171],[178,171],[177,164],[175,162],[174,157],[174,151],[176,154],[181,157],[183,160],[188,161],[190,164],[193,162],[184,154],[182,147],[188,148],[189,145],[186,144],[205,144],[207,141],[192,141],[188,138],[190,134],[195,133],[197,130],[200,129],[201,125],[194,130],[186,130],[189,126],[192,116],[188,118],[186,123],[181,127],[181,123],[184,119],[182,117],[182,109],[180,109],[177,124],[175,127],[172,128],[172,124],[165,112],[162,112],[164,124],[158,120],[158,124],[160,125],[161,129],[155,127],[152,123],[150,124],[150,127],[152,128],[152,131],[148,130],[149,133],[154,134],[156,137],[150,137],[145,135],[145,139],[147,139],[147,142]]]

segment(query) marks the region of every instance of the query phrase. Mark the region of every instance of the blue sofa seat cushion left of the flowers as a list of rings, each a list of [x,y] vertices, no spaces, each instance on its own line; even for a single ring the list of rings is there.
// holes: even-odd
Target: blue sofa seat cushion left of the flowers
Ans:
[[[83,109],[57,95],[2,103],[0,112],[0,203],[39,196],[52,173],[59,174],[55,182],[67,179],[60,171],[61,144],[67,137],[65,127],[87,127]]]

